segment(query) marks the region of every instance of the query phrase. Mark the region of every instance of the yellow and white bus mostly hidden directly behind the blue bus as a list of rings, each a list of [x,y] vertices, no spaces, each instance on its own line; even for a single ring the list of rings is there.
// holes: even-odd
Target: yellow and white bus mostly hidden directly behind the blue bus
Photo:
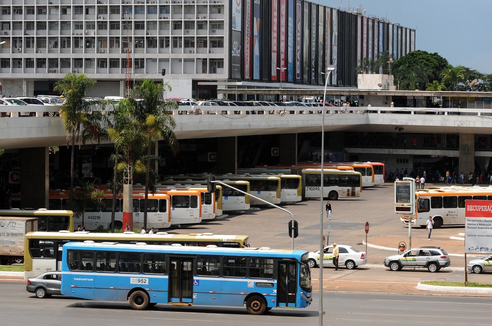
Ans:
[[[149,245],[192,245],[243,248],[249,247],[248,236],[223,235],[213,233],[168,234],[135,234],[124,233],[92,233],[92,232],[29,232],[24,242],[24,273],[25,278],[37,276],[48,271],[61,271],[62,246],[69,242],[118,242],[122,244],[146,243]]]

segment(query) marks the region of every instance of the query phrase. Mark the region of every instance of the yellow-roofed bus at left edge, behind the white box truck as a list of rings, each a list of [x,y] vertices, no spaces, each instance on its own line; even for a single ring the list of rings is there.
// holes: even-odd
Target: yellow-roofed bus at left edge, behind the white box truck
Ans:
[[[18,209],[0,210],[0,216],[6,217],[37,217],[39,231],[58,232],[60,230],[73,231],[73,212],[63,210]]]

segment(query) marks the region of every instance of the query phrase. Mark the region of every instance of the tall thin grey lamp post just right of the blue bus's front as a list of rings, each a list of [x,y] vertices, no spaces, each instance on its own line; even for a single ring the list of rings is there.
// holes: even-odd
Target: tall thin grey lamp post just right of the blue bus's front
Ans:
[[[326,101],[326,87],[328,86],[328,79],[330,74],[335,70],[335,65],[329,65],[326,67],[325,75],[325,91],[323,92],[323,119],[321,123],[321,193],[319,195],[319,326],[323,326],[323,169],[325,159],[325,101]]]

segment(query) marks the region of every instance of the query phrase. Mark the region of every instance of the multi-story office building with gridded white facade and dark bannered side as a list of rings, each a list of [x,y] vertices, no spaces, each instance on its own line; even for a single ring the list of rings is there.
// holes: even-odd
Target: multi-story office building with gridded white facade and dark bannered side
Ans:
[[[2,0],[0,21],[5,95],[84,73],[92,96],[164,78],[168,97],[211,98],[230,85],[318,87],[330,64],[330,85],[356,86],[364,58],[415,49],[413,29],[304,0]]]

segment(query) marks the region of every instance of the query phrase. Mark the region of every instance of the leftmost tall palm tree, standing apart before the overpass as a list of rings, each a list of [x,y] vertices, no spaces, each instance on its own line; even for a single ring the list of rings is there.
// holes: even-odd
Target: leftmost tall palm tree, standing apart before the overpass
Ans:
[[[71,145],[70,157],[70,198],[69,205],[72,205],[73,198],[73,181],[75,179],[74,157],[75,142],[78,141],[84,123],[87,121],[86,112],[91,107],[91,103],[84,101],[87,87],[94,87],[92,79],[85,74],[66,74],[62,80],[55,82],[53,89],[65,98],[60,116],[63,120],[63,127],[66,131],[66,145]],[[86,136],[89,137],[89,134]]]

